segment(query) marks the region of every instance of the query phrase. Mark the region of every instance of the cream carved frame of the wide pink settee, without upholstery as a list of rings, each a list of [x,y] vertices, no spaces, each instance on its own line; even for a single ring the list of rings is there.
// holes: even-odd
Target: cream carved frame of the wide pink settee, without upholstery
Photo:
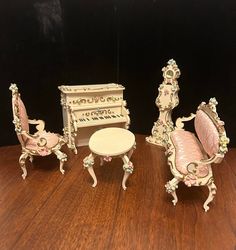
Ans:
[[[178,202],[178,197],[176,194],[176,189],[178,188],[179,182],[184,182],[188,187],[191,186],[207,186],[209,189],[208,198],[203,204],[203,208],[205,212],[209,210],[209,203],[214,199],[216,195],[216,185],[214,184],[214,177],[213,172],[211,168],[212,163],[220,163],[222,159],[224,158],[227,149],[227,144],[229,143],[229,139],[226,136],[226,132],[224,129],[224,122],[220,120],[217,112],[216,112],[216,105],[217,101],[215,98],[211,98],[209,100],[209,103],[206,104],[205,102],[202,102],[198,110],[203,111],[207,116],[211,119],[213,124],[215,125],[218,135],[219,135],[219,150],[217,153],[214,153],[211,157],[207,155],[207,152],[204,151],[203,146],[201,145],[201,142],[199,141],[199,148],[201,148],[201,151],[203,151],[204,155],[206,155],[208,158],[202,159],[202,160],[195,160],[186,166],[187,174],[184,174],[180,172],[176,167],[176,145],[174,145],[171,136],[169,136],[168,140],[168,147],[166,150],[166,155],[168,157],[168,164],[170,166],[171,173],[173,174],[174,178],[170,181],[168,181],[165,185],[166,191],[172,195],[173,197],[173,204],[176,205]],[[189,117],[182,117],[178,118],[176,120],[176,127],[175,130],[184,130],[184,122],[190,121],[195,118],[195,114],[191,114]],[[208,166],[208,174],[199,177],[198,171],[199,167],[201,166]]]

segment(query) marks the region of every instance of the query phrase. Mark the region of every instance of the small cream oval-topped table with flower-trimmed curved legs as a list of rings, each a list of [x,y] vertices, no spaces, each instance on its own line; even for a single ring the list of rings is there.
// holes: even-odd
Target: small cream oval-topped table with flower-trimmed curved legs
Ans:
[[[95,157],[100,157],[100,165],[104,161],[111,161],[113,157],[120,157],[123,160],[124,176],[122,187],[126,190],[126,181],[133,172],[133,164],[130,157],[135,149],[135,137],[132,132],[123,128],[104,128],[96,131],[89,139],[90,155],[85,157],[83,165],[87,168],[93,178],[93,187],[97,185],[97,178],[93,165]]]

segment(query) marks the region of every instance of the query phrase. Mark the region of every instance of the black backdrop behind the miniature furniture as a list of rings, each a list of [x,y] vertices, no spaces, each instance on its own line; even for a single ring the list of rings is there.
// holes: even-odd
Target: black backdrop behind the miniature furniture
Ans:
[[[62,133],[61,84],[117,82],[130,129],[150,134],[161,68],[181,70],[178,116],[216,97],[236,146],[235,0],[8,0],[0,2],[0,145],[17,144],[11,82],[30,118]]]

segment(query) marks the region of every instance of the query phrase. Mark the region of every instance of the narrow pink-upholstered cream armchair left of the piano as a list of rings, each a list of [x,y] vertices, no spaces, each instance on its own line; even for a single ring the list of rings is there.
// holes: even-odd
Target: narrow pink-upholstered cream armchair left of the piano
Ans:
[[[27,176],[25,161],[28,157],[32,162],[33,156],[46,156],[51,153],[57,156],[57,159],[60,161],[60,171],[64,174],[63,165],[67,160],[67,155],[60,151],[62,145],[65,144],[64,138],[59,134],[46,132],[44,130],[44,121],[28,119],[16,84],[11,84],[9,89],[12,91],[13,123],[22,147],[19,158],[19,163],[23,170],[22,178],[25,179]],[[37,125],[37,132],[33,135],[30,134],[29,124]]]

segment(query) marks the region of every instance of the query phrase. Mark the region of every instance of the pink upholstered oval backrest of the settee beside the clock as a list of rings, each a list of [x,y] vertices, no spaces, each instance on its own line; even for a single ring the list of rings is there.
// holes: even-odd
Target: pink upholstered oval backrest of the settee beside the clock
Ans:
[[[219,132],[209,115],[202,110],[198,110],[194,120],[194,126],[205,152],[209,156],[218,153],[220,143]]]

